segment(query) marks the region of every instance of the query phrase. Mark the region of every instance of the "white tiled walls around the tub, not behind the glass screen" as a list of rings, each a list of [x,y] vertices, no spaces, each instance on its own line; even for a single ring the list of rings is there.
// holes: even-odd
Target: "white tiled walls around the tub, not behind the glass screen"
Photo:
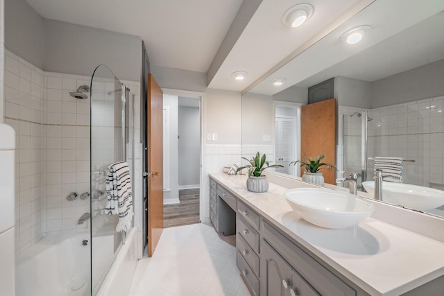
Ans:
[[[89,192],[89,98],[76,99],[69,92],[89,86],[91,78],[44,72],[7,50],[4,73],[4,119],[15,129],[17,142],[15,247],[19,254],[44,236],[89,231],[89,222],[77,224],[89,212],[89,199],[68,201],[66,196]],[[124,83],[135,94],[138,143],[139,82]],[[142,162],[140,155],[136,161]],[[140,165],[137,168],[142,170]]]

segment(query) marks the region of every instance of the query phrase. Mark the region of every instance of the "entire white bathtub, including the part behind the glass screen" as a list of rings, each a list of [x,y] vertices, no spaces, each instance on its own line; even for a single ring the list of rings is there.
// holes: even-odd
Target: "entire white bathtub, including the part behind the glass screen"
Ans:
[[[43,238],[17,258],[16,296],[88,296],[91,279],[96,295],[126,295],[137,265],[136,236],[137,228],[131,229],[115,255],[114,236],[94,237],[92,275],[88,233]]]

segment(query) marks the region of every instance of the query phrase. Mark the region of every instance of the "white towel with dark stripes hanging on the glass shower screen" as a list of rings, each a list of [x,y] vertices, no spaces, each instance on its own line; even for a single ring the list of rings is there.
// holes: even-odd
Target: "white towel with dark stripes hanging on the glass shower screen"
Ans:
[[[133,221],[133,192],[131,191],[130,168],[126,162],[108,166],[106,175],[107,215],[119,215],[116,231],[127,232]]]

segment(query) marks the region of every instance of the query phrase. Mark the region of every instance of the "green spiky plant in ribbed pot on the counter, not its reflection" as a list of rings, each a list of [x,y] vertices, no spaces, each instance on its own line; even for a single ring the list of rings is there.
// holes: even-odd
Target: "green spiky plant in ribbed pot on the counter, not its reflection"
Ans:
[[[266,161],[266,155],[261,155],[259,152],[256,153],[255,157],[252,159],[246,159],[242,157],[250,164],[246,166],[241,166],[237,169],[236,173],[242,171],[244,168],[248,168],[248,179],[247,179],[247,189],[253,192],[266,192],[268,190],[268,180],[266,176],[262,175],[262,172],[266,168],[277,168],[282,166],[280,164],[272,164]]]

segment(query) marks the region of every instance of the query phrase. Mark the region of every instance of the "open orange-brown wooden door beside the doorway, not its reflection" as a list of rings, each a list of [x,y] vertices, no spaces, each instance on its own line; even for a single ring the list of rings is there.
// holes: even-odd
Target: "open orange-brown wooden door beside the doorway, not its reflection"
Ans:
[[[163,185],[163,93],[148,73],[146,102],[148,159],[148,256],[153,256],[164,225]]]

